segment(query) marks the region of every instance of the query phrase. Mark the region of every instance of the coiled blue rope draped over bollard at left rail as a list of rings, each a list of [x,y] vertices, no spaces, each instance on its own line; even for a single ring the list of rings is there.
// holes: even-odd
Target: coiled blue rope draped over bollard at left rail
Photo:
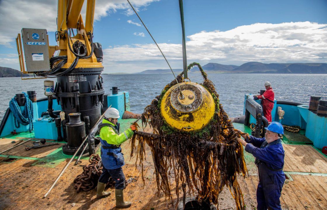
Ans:
[[[25,95],[25,107],[23,112],[21,112],[19,105],[17,104],[17,101],[14,98],[11,99],[9,102],[9,108],[14,116],[14,123],[16,128],[20,127],[20,124],[22,125],[29,125],[29,132],[32,132],[33,130],[33,102],[28,98],[28,95],[23,92]]]

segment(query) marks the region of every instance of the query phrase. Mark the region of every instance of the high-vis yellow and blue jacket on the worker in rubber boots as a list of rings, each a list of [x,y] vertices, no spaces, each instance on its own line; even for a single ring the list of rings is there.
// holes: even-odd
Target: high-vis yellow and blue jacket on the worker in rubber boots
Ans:
[[[118,169],[125,165],[124,154],[121,152],[120,145],[133,136],[132,129],[119,134],[114,124],[103,119],[102,123],[107,123],[108,126],[100,128],[101,142],[101,159],[103,166],[106,169]],[[108,149],[106,147],[115,147]]]

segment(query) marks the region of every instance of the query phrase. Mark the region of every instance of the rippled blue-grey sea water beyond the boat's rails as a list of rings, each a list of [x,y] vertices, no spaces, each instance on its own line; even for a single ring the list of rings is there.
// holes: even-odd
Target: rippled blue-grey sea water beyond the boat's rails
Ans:
[[[174,79],[173,74],[103,74],[102,77],[106,94],[111,94],[111,87],[118,87],[119,91],[129,91],[130,111],[135,113],[142,113],[146,105]],[[192,82],[203,82],[200,73],[189,73],[188,77]],[[265,89],[266,81],[271,83],[277,100],[308,104],[311,95],[320,95],[327,100],[327,74],[208,73],[208,79],[215,84],[220,103],[230,117],[243,115],[244,94],[258,94],[260,89]],[[37,98],[45,97],[44,80],[0,78],[0,121],[16,93],[35,90]]]

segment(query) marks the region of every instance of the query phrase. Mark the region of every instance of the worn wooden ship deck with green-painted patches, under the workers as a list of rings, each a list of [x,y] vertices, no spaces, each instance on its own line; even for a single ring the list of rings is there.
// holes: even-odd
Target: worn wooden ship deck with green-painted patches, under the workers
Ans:
[[[122,120],[121,129],[128,127],[131,121]],[[242,124],[234,123],[234,126],[250,132],[250,129]],[[151,132],[151,129],[145,128],[145,131]],[[33,137],[33,133],[9,135],[0,139],[0,151],[26,139],[37,140]],[[11,143],[13,140],[16,142]],[[71,158],[69,155],[62,154],[63,143],[29,151],[24,149],[25,146],[18,146],[8,152],[9,159],[0,162],[0,209],[116,209],[113,187],[108,189],[112,195],[103,199],[96,199],[95,190],[76,192],[73,180],[82,172],[82,167],[74,166],[75,161],[70,164],[47,198],[42,199]],[[25,145],[32,146],[32,142],[26,142]],[[288,144],[286,138],[284,138],[283,146],[285,150],[284,172],[287,180],[282,191],[282,208],[327,209],[327,157],[312,145]],[[149,147],[146,146],[144,185],[141,167],[138,165],[135,167],[135,157],[129,158],[129,143],[125,142],[122,149],[126,161],[123,167],[125,176],[127,179],[136,177],[137,180],[130,183],[124,191],[126,200],[132,202],[129,209],[176,209],[172,205],[177,201],[174,189],[172,189],[172,201],[166,200],[163,193],[157,193]],[[244,195],[246,209],[256,209],[257,168],[254,165],[253,156],[246,152],[244,155],[249,175],[245,179],[239,176],[238,182]],[[0,161],[6,157],[7,153],[1,154]],[[83,157],[81,161],[80,165],[88,164],[88,157]],[[171,181],[174,182],[173,179]],[[220,210],[236,209],[235,202],[227,188],[219,195],[218,208]]]

